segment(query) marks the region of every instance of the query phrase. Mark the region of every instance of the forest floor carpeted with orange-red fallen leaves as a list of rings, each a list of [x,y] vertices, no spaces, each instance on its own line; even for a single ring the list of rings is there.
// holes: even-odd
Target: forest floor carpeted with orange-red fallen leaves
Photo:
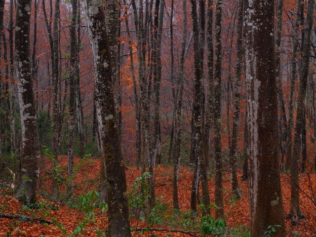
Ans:
[[[100,162],[96,159],[75,160],[75,197],[85,195],[91,190],[97,190],[99,179]],[[60,158],[60,167],[66,170],[67,158]],[[46,166],[47,169],[47,166]],[[179,202],[181,213],[174,215],[172,210],[172,172],[173,168],[158,165],[156,167],[156,197],[159,198],[159,207],[153,227],[178,229],[186,231],[199,231],[200,216],[192,218],[188,215],[190,210],[192,171],[188,167],[181,167],[179,172]],[[41,217],[46,220],[54,221],[54,224],[45,224],[40,222],[23,221],[19,219],[0,218],[0,236],[7,237],[64,237],[70,236],[75,229],[82,226],[86,220],[85,212],[76,206],[76,199],[53,201],[47,193],[51,190],[51,178],[49,175],[41,173],[40,177],[40,196],[37,208],[23,206],[19,201],[13,198],[10,181],[2,181],[3,188],[0,189],[0,213],[12,215],[24,215],[30,217]],[[128,167],[126,178],[128,190],[134,187],[135,179],[139,177],[140,171],[135,167]],[[241,236],[249,228],[249,202],[248,202],[248,182],[241,180],[241,172],[238,173],[239,185],[242,198],[237,200],[232,196],[230,186],[230,175],[225,172],[224,175],[224,203],[225,215],[228,231],[226,236]],[[312,180],[316,182],[316,176],[312,175]],[[6,184],[5,184],[6,183]],[[284,216],[290,209],[290,185],[286,174],[281,175]],[[309,179],[306,174],[300,176],[300,188],[308,195],[311,195]],[[214,203],[214,177],[210,175],[209,189],[211,194],[211,203]],[[316,206],[305,195],[300,192],[301,210],[307,217],[301,220],[300,225],[291,226],[290,220],[285,220],[286,233],[288,237],[316,237]],[[78,202],[78,198],[77,198]],[[159,212],[160,211],[160,212]],[[132,211],[133,212],[133,211]],[[135,210],[134,210],[135,212]],[[214,214],[214,210],[212,211]],[[159,214],[160,213],[160,214]],[[107,216],[101,210],[95,210],[95,221],[87,223],[79,236],[100,236],[96,230],[106,229]],[[148,228],[146,219],[134,218],[131,220],[132,228]],[[146,231],[144,233],[133,232],[133,237],[175,237],[189,236],[183,233],[170,233],[160,231]],[[198,236],[198,234],[193,234]]]

